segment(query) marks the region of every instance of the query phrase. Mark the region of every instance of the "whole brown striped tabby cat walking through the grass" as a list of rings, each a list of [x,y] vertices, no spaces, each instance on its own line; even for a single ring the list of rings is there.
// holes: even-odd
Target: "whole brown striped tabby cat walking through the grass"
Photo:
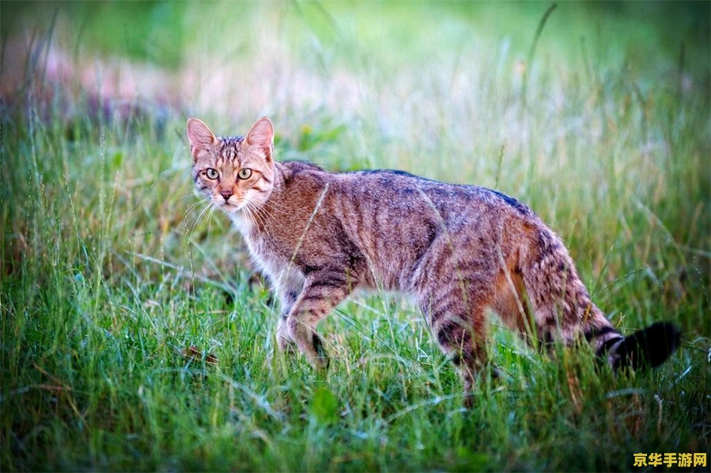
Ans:
[[[471,390],[487,311],[535,346],[587,340],[614,369],[657,366],[671,324],[624,337],[591,301],[560,238],[515,198],[401,171],[335,174],[274,161],[264,117],[245,137],[188,120],[193,179],[244,236],[281,302],[277,341],[327,362],[316,325],[357,288],[399,290],[422,309]]]

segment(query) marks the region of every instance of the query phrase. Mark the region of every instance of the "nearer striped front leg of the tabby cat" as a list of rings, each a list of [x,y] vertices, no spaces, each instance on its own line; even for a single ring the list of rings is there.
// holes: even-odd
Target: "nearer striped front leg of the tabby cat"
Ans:
[[[316,324],[345,299],[351,290],[352,286],[343,271],[313,272],[306,277],[304,289],[287,316],[286,324],[291,339],[315,368],[328,366],[323,341],[316,334]]]

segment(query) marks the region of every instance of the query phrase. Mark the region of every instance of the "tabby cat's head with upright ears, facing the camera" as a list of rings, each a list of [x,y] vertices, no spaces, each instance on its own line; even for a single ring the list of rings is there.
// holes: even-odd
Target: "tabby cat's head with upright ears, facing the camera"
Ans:
[[[197,118],[188,119],[193,181],[213,206],[235,213],[267,201],[274,182],[274,127],[267,117],[245,137],[215,137]]]

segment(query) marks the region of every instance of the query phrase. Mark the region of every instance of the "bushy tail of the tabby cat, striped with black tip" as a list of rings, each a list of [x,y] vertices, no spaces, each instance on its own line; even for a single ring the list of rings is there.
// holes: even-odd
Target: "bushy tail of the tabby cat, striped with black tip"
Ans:
[[[678,348],[680,332],[668,322],[620,334],[592,303],[560,238],[547,228],[536,237],[520,269],[542,340],[574,344],[582,334],[614,371],[654,368]]]

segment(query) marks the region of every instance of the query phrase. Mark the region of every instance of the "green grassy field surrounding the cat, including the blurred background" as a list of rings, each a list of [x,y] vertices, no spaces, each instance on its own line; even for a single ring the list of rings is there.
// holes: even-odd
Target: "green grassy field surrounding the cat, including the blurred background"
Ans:
[[[709,4],[565,2],[537,36],[548,6],[3,1],[0,469],[694,469],[633,454],[711,449]],[[614,378],[492,318],[470,411],[397,295],[319,326],[326,374],[273,354],[184,134],[261,115],[277,159],[529,203],[616,326],[680,350]]]

